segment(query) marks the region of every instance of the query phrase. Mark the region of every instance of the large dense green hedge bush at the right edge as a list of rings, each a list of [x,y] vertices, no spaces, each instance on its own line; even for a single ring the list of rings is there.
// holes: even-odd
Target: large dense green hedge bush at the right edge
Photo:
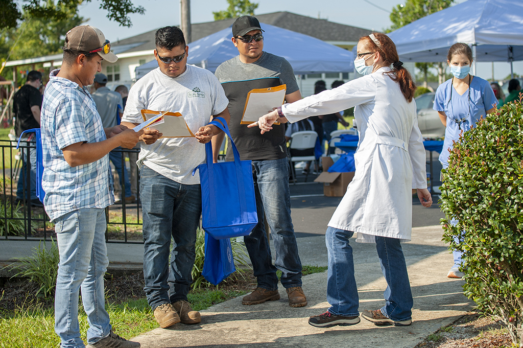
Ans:
[[[509,103],[465,132],[442,172],[442,210],[459,221],[442,221],[444,240],[463,252],[464,294],[523,347],[523,105]]]

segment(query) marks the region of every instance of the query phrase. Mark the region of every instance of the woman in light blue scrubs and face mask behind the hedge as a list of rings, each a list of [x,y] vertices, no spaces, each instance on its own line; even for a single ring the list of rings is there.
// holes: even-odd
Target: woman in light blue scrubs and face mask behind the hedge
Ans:
[[[447,54],[447,63],[453,77],[438,87],[434,98],[434,110],[438,111],[446,127],[443,150],[439,155],[444,168],[449,166],[449,151],[453,141],[460,138],[461,132],[474,127],[481,117],[492,113],[498,104],[490,83],[469,73],[472,50],[467,44],[454,43]],[[457,220],[451,220],[450,223],[456,224]],[[452,254],[454,264],[447,277],[461,278],[461,252],[454,250]]]

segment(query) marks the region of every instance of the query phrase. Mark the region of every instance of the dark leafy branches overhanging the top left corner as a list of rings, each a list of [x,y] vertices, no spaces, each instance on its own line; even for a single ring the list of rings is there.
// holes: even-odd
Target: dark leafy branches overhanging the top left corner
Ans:
[[[16,0],[0,0],[0,29],[15,28],[17,20],[24,20],[27,14],[32,18],[60,20],[72,10],[76,12],[78,5],[84,0],[25,0],[22,12],[18,9]],[[89,2],[91,0],[85,0]],[[107,18],[117,21],[121,26],[130,27],[131,19],[128,15],[143,14],[142,6],[134,6],[130,0],[97,0],[100,8],[107,10]]]

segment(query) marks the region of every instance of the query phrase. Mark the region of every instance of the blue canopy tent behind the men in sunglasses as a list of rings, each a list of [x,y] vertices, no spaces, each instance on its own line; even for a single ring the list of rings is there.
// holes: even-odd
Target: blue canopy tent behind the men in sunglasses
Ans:
[[[261,27],[265,30],[264,51],[287,59],[294,74],[354,71],[354,55],[350,51],[291,30],[263,23]],[[238,55],[231,37],[232,29],[229,27],[189,43],[187,63],[214,72],[218,65]],[[156,60],[138,66],[135,69],[136,78],[157,66]]]

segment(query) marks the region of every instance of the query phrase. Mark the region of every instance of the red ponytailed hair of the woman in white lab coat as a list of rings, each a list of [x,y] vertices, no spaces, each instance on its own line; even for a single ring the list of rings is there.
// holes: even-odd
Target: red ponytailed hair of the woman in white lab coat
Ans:
[[[400,58],[398,57],[396,51],[396,45],[385,34],[380,32],[373,32],[372,34],[374,35],[374,38],[376,38],[376,40],[378,40],[380,43],[379,46],[368,35],[362,36],[360,41],[364,40],[366,42],[366,46],[370,50],[373,50],[373,52],[380,52],[380,55],[386,65],[393,66],[392,71],[385,72],[384,74],[389,75],[392,81],[399,83],[401,92],[403,93],[405,99],[407,99],[409,103],[412,102],[412,98],[414,98],[414,92],[416,91],[416,84],[412,80],[411,74],[403,67],[403,63],[400,62]]]

